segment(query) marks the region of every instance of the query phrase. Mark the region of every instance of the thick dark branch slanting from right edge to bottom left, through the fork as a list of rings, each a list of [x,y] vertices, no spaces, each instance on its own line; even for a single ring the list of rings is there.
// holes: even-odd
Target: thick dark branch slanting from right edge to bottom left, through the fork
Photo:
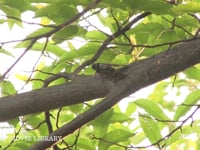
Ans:
[[[62,136],[64,138],[129,94],[199,63],[199,56],[200,39],[194,39],[149,59],[130,64],[126,71],[126,77],[115,84],[101,103],[56,130],[49,137]],[[53,144],[55,141],[41,141],[34,145],[31,150],[45,149]]]

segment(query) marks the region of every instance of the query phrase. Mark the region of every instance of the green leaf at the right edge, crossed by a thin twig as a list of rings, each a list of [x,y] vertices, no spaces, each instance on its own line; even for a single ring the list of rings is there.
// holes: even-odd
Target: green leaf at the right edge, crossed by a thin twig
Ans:
[[[183,104],[194,105],[199,99],[200,99],[200,90],[196,90],[196,91],[191,92],[186,97]],[[174,115],[174,120],[178,120],[180,117],[184,116],[190,109],[191,109],[191,106],[185,106],[185,105],[178,106]]]

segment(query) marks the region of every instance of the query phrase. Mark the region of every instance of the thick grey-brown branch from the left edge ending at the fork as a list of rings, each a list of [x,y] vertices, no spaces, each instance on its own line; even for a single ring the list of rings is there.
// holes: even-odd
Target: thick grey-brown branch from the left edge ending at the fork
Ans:
[[[81,79],[70,83],[2,97],[0,98],[0,122],[25,114],[105,97],[112,84],[98,76],[82,76]]]

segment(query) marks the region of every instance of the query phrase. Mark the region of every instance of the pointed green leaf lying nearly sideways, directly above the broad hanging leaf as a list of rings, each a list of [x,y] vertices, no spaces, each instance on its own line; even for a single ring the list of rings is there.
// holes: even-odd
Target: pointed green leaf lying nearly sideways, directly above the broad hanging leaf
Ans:
[[[168,120],[168,117],[165,115],[162,109],[153,101],[147,99],[139,99],[134,101],[134,103],[156,119]]]

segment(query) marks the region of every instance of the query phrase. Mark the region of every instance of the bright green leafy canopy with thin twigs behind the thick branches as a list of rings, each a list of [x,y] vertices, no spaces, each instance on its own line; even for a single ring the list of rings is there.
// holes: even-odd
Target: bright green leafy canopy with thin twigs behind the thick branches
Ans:
[[[23,39],[0,41],[0,57],[13,61],[1,70],[2,96],[30,87],[44,88],[47,79],[60,72],[94,75],[93,63],[126,66],[191,40],[199,34],[199,2],[1,0],[1,25],[11,31],[20,28],[25,33]],[[27,21],[28,16],[23,15],[30,12],[34,17]],[[144,13],[144,17],[132,21]],[[15,72],[15,66],[29,53],[34,60],[26,64],[29,70]],[[195,114],[200,99],[199,72],[200,66],[195,65],[160,81],[150,94],[143,94],[146,96],[130,96],[127,106],[115,105],[63,138],[54,149],[198,148],[200,120]],[[19,81],[23,83],[21,87],[17,85]],[[65,82],[70,81],[52,80],[48,86]],[[0,146],[28,149],[41,140],[39,137],[57,130],[100,100],[10,120],[15,132]]]

